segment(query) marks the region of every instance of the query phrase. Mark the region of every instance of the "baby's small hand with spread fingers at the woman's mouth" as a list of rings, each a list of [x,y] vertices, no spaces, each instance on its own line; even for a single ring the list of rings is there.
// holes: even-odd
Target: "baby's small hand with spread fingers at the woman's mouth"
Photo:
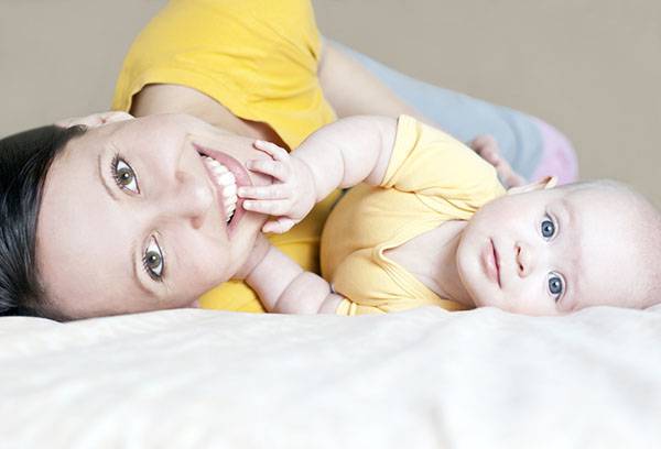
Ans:
[[[273,177],[270,186],[240,187],[243,209],[273,217],[262,227],[263,232],[283,233],[301,221],[316,202],[315,185],[308,166],[292,157],[286,150],[264,141],[254,141],[254,147],[272,161],[250,161],[248,168]]]

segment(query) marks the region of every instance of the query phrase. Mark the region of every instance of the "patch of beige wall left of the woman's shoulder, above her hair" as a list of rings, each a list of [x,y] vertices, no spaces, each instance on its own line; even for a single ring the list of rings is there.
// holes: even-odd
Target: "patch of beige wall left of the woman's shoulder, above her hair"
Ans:
[[[164,0],[0,0],[0,134],[107,110],[122,57]]]

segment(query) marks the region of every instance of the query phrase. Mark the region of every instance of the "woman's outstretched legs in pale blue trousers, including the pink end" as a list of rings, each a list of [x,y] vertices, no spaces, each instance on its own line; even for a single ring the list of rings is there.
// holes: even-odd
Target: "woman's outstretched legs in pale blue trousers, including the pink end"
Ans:
[[[574,149],[550,124],[510,108],[420,81],[342,44],[338,46],[457,139],[473,142],[480,135],[494,135],[502,157],[523,177],[534,180],[554,175],[561,183],[577,178]]]

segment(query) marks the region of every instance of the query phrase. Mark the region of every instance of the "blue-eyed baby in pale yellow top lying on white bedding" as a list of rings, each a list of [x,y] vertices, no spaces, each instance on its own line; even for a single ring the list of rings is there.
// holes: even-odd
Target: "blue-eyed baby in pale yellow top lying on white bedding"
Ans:
[[[293,154],[250,169],[268,187],[242,187],[248,210],[284,232],[336,187],[319,276],[266,239],[246,281],[280,313],[359,315],[437,305],[562,315],[588,306],[644,308],[661,300],[661,215],[610,180],[514,187],[452,136],[402,116],[353,117],[311,135]]]

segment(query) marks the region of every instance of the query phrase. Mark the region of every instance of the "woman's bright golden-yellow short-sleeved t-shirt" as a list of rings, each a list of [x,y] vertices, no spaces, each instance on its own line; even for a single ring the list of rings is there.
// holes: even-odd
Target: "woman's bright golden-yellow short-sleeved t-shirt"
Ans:
[[[140,33],[117,81],[112,109],[128,111],[149,84],[194,88],[234,114],[268,123],[291,147],[335,120],[317,67],[321,36],[307,0],[171,0]],[[318,242],[336,196],[273,244],[318,272]],[[245,284],[230,282],[203,307],[263,311]]]

